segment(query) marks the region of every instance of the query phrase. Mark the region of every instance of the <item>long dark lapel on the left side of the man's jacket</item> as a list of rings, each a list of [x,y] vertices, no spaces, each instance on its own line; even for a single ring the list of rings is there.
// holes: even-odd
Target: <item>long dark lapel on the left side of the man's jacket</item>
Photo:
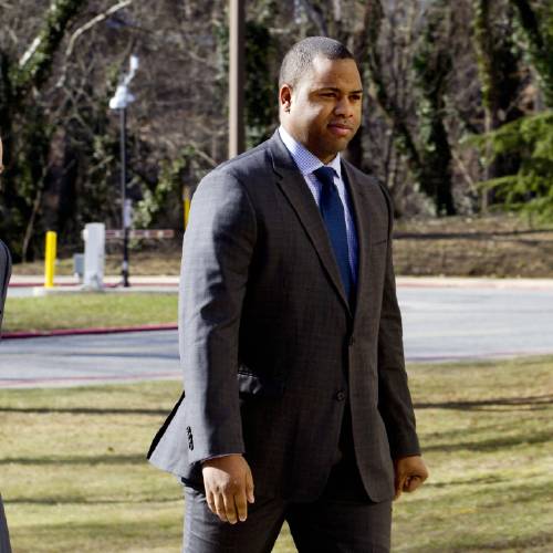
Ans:
[[[290,201],[302,227],[315,248],[321,263],[328,274],[336,293],[349,312],[349,304],[340,276],[340,269],[323,219],[302,174],[298,170],[278,131],[270,140],[270,152],[273,158],[276,182]]]

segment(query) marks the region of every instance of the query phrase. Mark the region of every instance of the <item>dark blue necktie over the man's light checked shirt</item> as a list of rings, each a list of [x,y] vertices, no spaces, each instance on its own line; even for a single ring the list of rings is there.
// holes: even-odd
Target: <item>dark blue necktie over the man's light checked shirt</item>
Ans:
[[[324,166],[313,171],[322,185],[319,209],[321,210],[326,231],[328,232],[328,238],[331,239],[346,298],[351,302],[354,284],[349,268],[344,206],[340,199],[338,190],[334,185],[335,173],[336,171],[332,167]]]

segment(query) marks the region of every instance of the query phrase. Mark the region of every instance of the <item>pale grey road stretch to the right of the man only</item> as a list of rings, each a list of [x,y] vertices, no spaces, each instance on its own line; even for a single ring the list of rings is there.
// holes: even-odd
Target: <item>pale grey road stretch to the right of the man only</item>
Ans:
[[[399,288],[410,362],[553,353],[553,290]]]

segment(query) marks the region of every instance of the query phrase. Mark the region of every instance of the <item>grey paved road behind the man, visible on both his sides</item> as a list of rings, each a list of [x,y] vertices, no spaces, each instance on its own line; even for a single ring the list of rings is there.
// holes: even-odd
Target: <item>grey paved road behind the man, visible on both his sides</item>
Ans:
[[[398,289],[408,362],[553,353],[553,290]],[[0,343],[0,387],[180,378],[175,331]]]

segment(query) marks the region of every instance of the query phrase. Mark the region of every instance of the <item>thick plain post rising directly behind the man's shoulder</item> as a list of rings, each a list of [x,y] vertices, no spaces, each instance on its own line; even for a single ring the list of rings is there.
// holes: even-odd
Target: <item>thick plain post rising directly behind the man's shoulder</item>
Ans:
[[[244,91],[244,0],[230,0],[229,12],[229,158],[246,149]]]

